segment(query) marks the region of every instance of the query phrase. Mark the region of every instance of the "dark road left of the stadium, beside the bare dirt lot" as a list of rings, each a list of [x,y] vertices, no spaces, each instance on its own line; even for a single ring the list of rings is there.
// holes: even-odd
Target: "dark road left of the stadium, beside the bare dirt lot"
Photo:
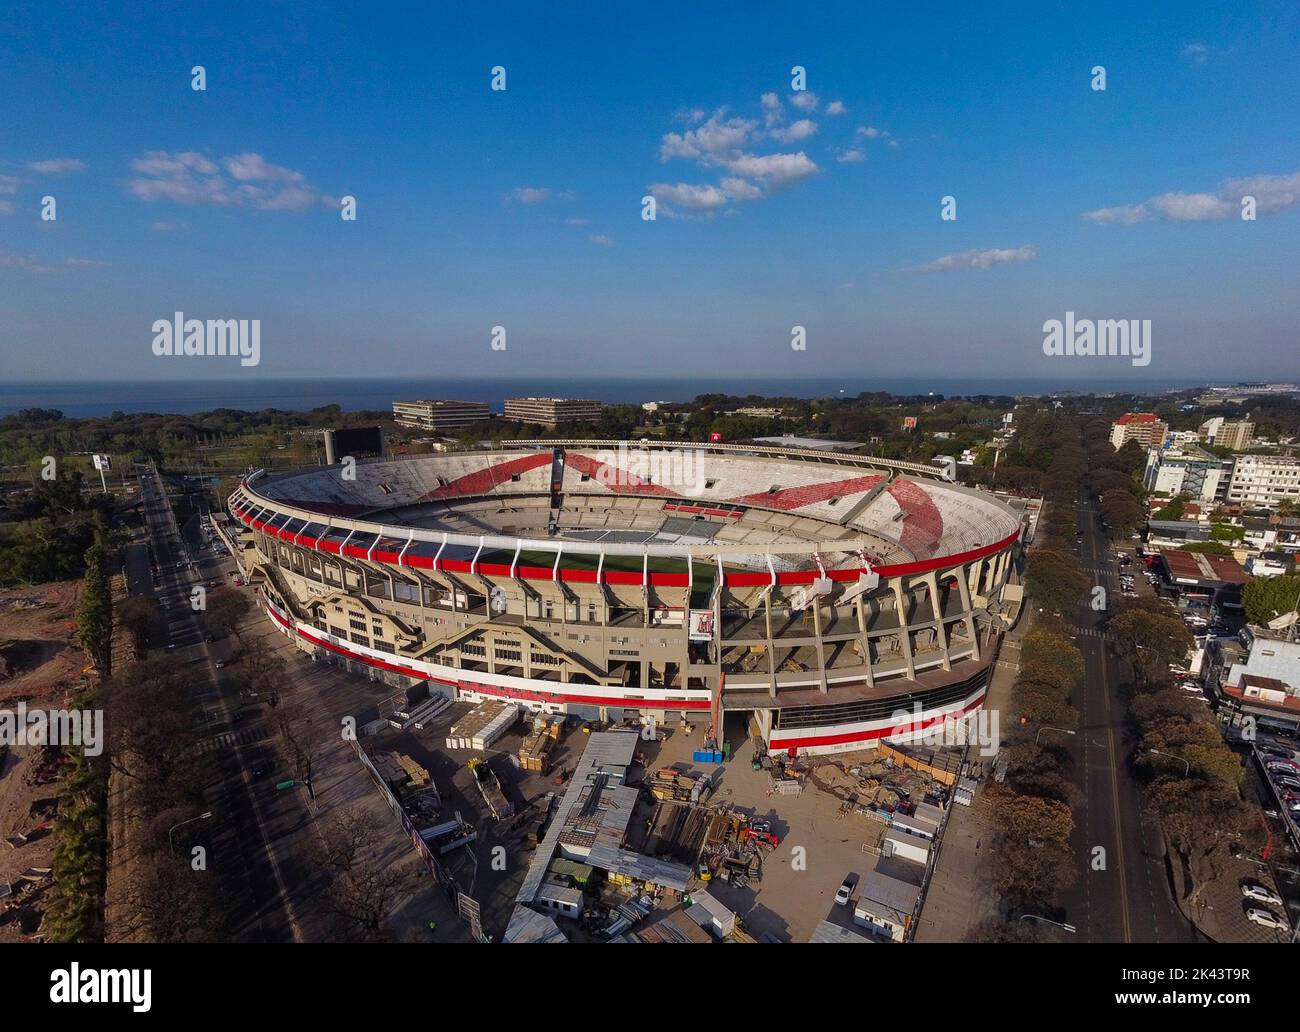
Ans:
[[[230,658],[229,643],[205,639],[191,604],[195,586],[220,585],[225,572],[196,528],[191,528],[195,533],[188,542],[182,538],[156,468],[140,464],[136,472],[157,571],[152,590],[166,624],[166,647],[178,662],[195,668],[195,719],[209,736],[200,749],[216,755],[220,771],[208,801],[216,815],[211,825],[213,866],[233,889],[231,932],[240,940],[303,941],[295,893],[289,886],[302,890],[311,879],[306,859],[289,844],[308,820],[306,806],[298,793],[276,792],[272,750],[261,745],[269,732],[235,719],[240,701],[233,690],[224,690],[218,673]],[[138,567],[138,558],[133,565]],[[129,568],[129,577],[131,572]]]

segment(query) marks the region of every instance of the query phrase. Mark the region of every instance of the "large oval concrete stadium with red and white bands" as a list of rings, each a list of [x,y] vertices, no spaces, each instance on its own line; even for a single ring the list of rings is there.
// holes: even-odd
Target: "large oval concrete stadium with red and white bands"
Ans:
[[[458,701],[833,753],[975,712],[1020,516],[930,465],[680,442],[263,471],[235,546],[321,660]]]

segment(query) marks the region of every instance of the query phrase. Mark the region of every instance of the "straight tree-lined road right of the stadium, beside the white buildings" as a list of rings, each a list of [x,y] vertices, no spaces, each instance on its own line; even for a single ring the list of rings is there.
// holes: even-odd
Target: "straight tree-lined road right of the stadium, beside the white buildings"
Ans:
[[[1084,490],[1079,530],[1084,573],[1113,602],[1121,594],[1118,565],[1097,503]],[[1104,611],[1084,607],[1075,633],[1084,662],[1083,685],[1074,695],[1080,727],[1065,742],[1083,789],[1071,844],[1082,859],[1078,883],[1063,894],[1067,920],[1091,942],[1204,941],[1174,903],[1160,829],[1144,815],[1141,786],[1130,772],[1121,695],[1127,672],[1106,647],[1104,619]]]

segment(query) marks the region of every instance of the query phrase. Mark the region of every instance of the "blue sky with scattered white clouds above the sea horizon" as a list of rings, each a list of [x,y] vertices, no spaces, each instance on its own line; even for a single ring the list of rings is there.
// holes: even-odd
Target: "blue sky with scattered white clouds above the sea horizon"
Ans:
[[[6,6],[0,376],[1300,377],[1294,4],[464,6]]]

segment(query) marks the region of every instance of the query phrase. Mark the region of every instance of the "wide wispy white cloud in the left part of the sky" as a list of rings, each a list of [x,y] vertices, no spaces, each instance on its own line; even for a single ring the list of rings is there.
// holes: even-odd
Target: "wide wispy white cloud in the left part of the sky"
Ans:
[[[265,212],[329,203],[300,172],[273,165],[252,152],[231,155],[217,165],[196,151],[148,151],[131,161],[131,169],[138,174],[125,186],[140,200]]]

